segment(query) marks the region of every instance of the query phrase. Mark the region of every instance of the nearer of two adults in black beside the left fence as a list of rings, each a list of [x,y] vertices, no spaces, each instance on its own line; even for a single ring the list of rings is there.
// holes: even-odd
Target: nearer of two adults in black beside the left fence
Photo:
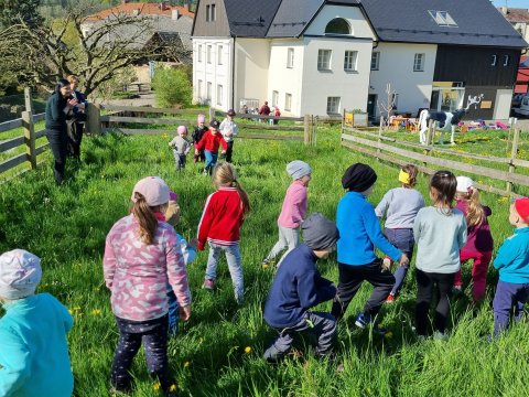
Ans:
[[[63,183],[66,168],[68,144],[66,119],[72,117],[72,109],[76,105],[77,99],[72,97],[69,82],[61,78],[46,103],[46,138],[55,160],[53,174],[57,184]]]

